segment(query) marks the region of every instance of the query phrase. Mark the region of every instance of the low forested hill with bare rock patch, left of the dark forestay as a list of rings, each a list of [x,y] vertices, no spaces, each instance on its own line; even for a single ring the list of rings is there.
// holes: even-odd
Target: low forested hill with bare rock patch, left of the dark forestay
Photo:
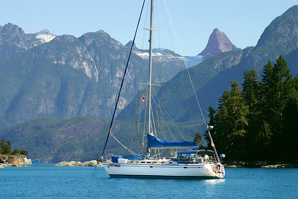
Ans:
[[[99,138],[106,136],[108,126],[107,120],[101,118],[43,118],[1,129],[0,135],[13,143],[13,149],[27,149],[28,158],[48,163],[90,161],[103,148],[105,140]]]

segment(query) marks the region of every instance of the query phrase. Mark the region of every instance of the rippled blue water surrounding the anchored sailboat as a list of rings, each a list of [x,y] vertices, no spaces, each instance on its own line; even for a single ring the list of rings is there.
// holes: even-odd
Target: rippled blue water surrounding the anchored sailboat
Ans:
[[[103,167],[0,168],[1,198],[297,198],[298,169],[226,168],[219,180],[109,178]]]

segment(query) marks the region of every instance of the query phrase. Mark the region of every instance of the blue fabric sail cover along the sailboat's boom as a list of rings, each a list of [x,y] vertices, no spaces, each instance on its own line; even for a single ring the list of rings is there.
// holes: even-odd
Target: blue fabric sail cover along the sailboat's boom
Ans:
[[[181,149],[181,148],[198,148],[196,142],[191,141],[168,141],[147,134],[147,147],[151,149]]]

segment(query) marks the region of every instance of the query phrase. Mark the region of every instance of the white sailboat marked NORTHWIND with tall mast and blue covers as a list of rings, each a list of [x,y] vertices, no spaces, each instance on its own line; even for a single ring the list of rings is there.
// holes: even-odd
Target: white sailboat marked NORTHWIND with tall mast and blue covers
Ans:
[[[145,2],[145,1],[144,1]],[[209,132],[209,137],[211,140],[211,145],[214,148],[212,150],[194,150],[194,148],[199,148],[198,144],[193,141],[168,141],[165,139],[157,138],[153,134],[154,122],[152,122],[152,110],[151,110],[151,75],[152,75],[152,43],[153,43],[153,4],[154,1],[151,0],[150,3],[150,31],[149,34],[149,75],[148,75],[148,133],[147,137],[147,155],[128,155],[128,156],[118,156],[113,155],[111,159],[104,159],[104,152],[109,135],[112,134],[112,125],[114,121],[115,112],[117,109],[117,103],[119,101],[119,96],[121,93],[122,84],[120,87],[118,99],[116,102],[115,111],[111,121],[110,129],[106,139],[105,147],[103,149],[103,154],[100,156],[100,161],[102,162],[106,172],[110,177],[120,177],[120,178],[203,178],[203,179],[219,179],[224,178],[225,169],[221,164],[221,159],[215,150],[214,142],[211,138],[209,132],[212,126],[207,126]],[[144,4],[143,4],[144,6]],[[134,41],[132,43],[132,46]],[[131,48],[132,50],[132,48]],[[130,57],[130,56],[129,56]],[[129,58],[128,58],[129,61]],[[128,62],[127,62],[128,65]],[[126,69],[127,69],[126,65]],[[126,73],[126,69],[124,75]],[[143,101],[143,96],[142,96]],[[153,150],[154,149],[154,150]],[[157,154],[153,155],[152,152],[158,150],[171,149],[177,152],[177,149],[183,149],[176,153],[175,157],[169,158],[157,158]],[[221,154],[221,157],[224,157]]]

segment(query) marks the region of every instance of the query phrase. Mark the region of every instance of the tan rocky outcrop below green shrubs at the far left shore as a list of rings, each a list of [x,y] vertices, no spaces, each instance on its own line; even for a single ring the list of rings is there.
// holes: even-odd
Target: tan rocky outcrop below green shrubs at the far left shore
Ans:
[[[23,166],[32,164],[25,155],[0,155],[0,168],[5,166]]]

